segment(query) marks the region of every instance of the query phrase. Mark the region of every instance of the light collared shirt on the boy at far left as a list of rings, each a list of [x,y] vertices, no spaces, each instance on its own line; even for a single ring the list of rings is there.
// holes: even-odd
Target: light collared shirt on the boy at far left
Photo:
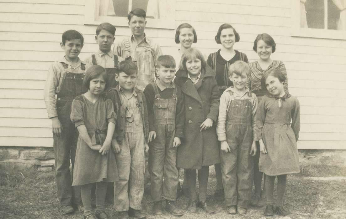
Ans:
[[[64,62],[69,65],[69,68],[65,69],[60,62]],[[85,70],[81,69],[81,63],[85,64],[85,70],[90,67],[90,65],[78,58],[76,65],[72,65],[71,62],[67,61],[63,57],[60,61],[55,61],[51,64],[48,69],[47,79],[45,87],[43,90],[43,97],[46,103],[46,108],[48,112],[48,117],[56,117],[58,113],[56,111],[55,94],[60,92],[60,86],[62,84],[65,72],[69,71],[72,73],[85,73]]]

